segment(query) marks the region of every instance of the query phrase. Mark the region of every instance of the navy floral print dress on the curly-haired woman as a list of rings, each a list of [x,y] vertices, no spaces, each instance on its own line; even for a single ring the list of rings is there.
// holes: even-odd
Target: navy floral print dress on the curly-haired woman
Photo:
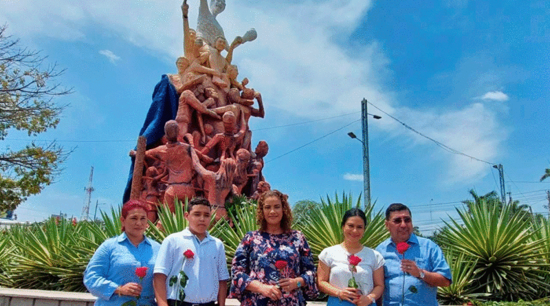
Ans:
[[[275,262],[281,260],[287,262],[282,273],[275,267]],[[318,294],[311,250],[304,235],[298,230],[283,234],[257,230],[248,232],[236,249],[231,274],[230,296],[239,299],[241,306],[304,306],[304,294],[309,298],[316,298]],[[305,283],[290,293],[283,292],[281,300],[272,300],[245,289],[252,281],[276,285],[279,278],[300,276]]]

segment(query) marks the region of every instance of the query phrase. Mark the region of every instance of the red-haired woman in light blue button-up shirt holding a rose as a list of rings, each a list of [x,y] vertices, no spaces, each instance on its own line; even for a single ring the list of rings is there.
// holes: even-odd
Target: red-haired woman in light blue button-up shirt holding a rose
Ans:
[[[84,272],[84,285],[98,297],[96,306],[120,306],[131,300],[137,305],[157,305],[153,292],[153,268],[160,244],[145,237],[148,206],[130,200],[122,206],[122,234],[107,239],[91,257]],[[144,277],[136,274],[138,267]],[[139,298],[138,298],[139,297]]]

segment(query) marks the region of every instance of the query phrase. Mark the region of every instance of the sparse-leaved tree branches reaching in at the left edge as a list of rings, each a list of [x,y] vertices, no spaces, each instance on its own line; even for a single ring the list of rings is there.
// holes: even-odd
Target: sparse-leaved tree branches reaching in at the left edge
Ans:
[[[45,56],[21,47],[19,39],[6,34],[7,28],[0,26],[0,141],[9,131],[36,136],[54,129],[67,107],[54,98],[72,92],[55,83],[63,70],[45,65]],[[56,142],[31,142],[19,151],[6,146],[0,151],[0,210],[14,210],[51,184],[69,153]]]

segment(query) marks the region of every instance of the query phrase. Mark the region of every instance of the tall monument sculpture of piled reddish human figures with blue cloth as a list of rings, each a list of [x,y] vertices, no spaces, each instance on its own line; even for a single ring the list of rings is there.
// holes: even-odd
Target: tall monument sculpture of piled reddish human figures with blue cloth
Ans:
[[[156,221],[157,206],[175,199],[201,195],[217,219],[227,219],[225,204],[233,195],[257,198],[270,189],[262,175],[267,142],[252,151],[250,116],[263,118],[259,91],[250,81],[237,80],[232,64],[236,47],[256,39],[256,30],[236,36],[230,45],[216,20],[225,0],[195,0],[197,30],[189,26],[187,0],[181,4],[183,56],[177,73],[163,75],[153,91],[153,102],[140,131],[137,149],[130,151],[132,165],[125,202],[130,197],[146,201]],[[257,107],[255,106],[257,103]]]

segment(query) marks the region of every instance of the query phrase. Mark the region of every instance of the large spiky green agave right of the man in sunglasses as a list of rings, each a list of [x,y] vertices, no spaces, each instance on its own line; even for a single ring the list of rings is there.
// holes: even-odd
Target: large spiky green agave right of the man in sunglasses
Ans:
[[[549,288],[544,282],[548,264],[542,259],[548,256],[547,241],[536,238],[521,212],[512,212],[509,205],[499,212],[485,200],[470,206],[470,212],[456,210],[461,220],[445,222],[448,230],[440,239],[476,261],[474,286],[482,287],[482,293],[527,299],[536,296],[538,288]]]

